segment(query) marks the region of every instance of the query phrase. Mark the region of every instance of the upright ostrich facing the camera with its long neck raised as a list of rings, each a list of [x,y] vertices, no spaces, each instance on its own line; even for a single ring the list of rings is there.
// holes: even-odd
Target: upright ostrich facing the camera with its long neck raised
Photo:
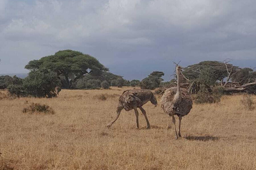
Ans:
[[[175,128],[175,139],[181,137],[180,134],[180,124],[183,116],[187,115],[192,109],[192,99],[188,94],[186,89],[180,88],[180,73],[181,66],[176,66],[176,74],[177,74],[177,87],[171,87],[167,89],[162,98],[161,98],[161,108],[164,110],[166,114],[172,117],[172,122]],[[182,73],[181,73],[182,74]],[[174,115],[179,117],[179,131],[177,135],[176,127],[175,127],[175,118]]]

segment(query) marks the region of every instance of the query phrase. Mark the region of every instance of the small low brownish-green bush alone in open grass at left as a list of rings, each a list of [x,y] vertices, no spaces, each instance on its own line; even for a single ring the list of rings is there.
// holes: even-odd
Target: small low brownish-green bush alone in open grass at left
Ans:
[[[31,103],[28,107],[23,108],[23,113],[44,113],[53,115],[54,110],[48,105],[42,105],[40,103]]]

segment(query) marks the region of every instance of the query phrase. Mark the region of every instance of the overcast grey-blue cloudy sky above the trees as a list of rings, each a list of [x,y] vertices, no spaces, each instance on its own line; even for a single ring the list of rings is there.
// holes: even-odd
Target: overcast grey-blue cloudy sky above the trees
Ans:
[[[125,79],[232,58],[256,67],[255,0],[0,0],[0,73],[73,49]]]

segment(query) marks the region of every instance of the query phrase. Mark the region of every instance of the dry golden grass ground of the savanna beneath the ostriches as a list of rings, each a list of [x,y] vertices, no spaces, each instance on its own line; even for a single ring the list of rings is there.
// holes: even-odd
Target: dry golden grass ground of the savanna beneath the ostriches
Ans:
[[[146,129],[139,111],[136,130],[134,112],[124,110],[106,128],[116,116],[118,98],[125,89],[62,90],[53,99],[3,98],[0,169],[256,169],[256,111],[243,108],[243,96],[223,96],[217,104],[194,104],[182,119],[183,137],[174,140],[174,129],[167,128],[171,118],[150,102],[144,109],[151,129]],[[56,113],[22,113],[31,102],[47,104]]]

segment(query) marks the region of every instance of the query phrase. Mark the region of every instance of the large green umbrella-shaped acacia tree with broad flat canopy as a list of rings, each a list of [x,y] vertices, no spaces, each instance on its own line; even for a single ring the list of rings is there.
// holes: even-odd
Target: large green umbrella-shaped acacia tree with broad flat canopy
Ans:
[[[72,83],[82,78],[85,74],[99,75],[108,71],[96,58],[88,54],[73,50],[61,50],[54,55],[32,60],[26,66],[29,70],[50,69],[57,76],[64,77],[66,88],[71,88]]]

